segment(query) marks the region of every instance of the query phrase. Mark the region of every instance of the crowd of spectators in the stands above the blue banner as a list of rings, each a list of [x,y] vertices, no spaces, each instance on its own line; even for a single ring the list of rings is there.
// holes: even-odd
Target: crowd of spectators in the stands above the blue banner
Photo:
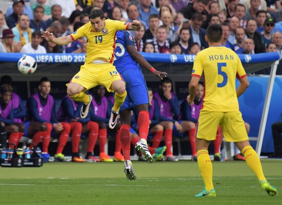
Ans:
[[[223,45],[238,54],[282,55],[282,7],[275,0],[14,0],[0,11],[0,52],[85,53],[85,38],[58,46],[43,40],[40,31],[69,35],[89,22],[92,9],[111,19],[140,20],[143,28],[130,32],[140,52],[196,54],[208,47],[206,29],[216,23],[224,29]]]

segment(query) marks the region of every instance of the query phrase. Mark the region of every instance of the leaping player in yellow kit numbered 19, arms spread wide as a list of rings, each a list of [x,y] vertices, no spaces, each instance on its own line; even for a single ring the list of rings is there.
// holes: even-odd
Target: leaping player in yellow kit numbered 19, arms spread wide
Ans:
[[[106,20],[103,11],[99,9],[90,13],[89,20],[89,23],[68,36],[55,38],[52,33],[43,31],[42,37],[57,45],[67,45],[83,36],[87,38],[85,64],[71,79],[67,94],[73,100],[84,103],[80,116],[85,118],[92,96],[85,94],[84,91],[97,85],[103,85],[109,92],[115,92],[114,106],[109,121],[109,127],[113,129],[119,108],[126,98],[125,83],[113,66],[116,32],[118,30],[140,30],[141,24],[138,20],[133,20],[132,23]]]

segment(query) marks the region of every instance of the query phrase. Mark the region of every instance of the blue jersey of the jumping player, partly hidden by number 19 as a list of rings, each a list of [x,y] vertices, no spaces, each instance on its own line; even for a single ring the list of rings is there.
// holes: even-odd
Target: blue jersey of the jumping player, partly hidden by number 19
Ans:
[[[131,57],[126,49],[129,45],[134,46],[130,33],[127,31],[118,31],[115,40],[114,66],[119,73],[122,73],[126,69],[140,69],[139,64]]]

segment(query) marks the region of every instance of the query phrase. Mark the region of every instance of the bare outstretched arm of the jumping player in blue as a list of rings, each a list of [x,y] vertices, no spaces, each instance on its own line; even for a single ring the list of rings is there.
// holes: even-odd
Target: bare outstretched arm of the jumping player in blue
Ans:
[[[156,76],[158,76],[160,79],[163,79],[163,77],[167,76],[166,72],[157,71],[153,68],[151,64],[148,63],[148,61],[141,55],[135,48],[135,46],[128,45],[127,47],[128,52],[130,53],[131,57],[140,65],[146,68],[147,70],[154,73]]]

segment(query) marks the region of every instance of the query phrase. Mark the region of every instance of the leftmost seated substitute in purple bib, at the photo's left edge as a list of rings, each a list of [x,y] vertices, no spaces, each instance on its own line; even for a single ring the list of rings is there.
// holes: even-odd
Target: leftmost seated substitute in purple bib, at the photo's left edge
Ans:
[[[12,92],[13,88],[11,85],[4,84],[0,87],[0,123],[2,126],[5,125],[5,131],[9,135],[8,142],[18,145],[19,140],[23,136],[25,130],[24,124],[14,124],[14,112],[12,106]],[[21,129],[21,132],[20,132]],[[10,146],[13,148],[14,146]]]

